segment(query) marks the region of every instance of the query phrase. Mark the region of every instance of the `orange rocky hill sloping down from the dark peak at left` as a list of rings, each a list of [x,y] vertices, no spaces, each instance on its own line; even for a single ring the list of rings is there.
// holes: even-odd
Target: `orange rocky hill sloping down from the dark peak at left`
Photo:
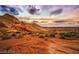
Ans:
[[[7,28],[10,30],[21,31],[45,31],[46,29],[35,24],[29,24],[18,20],[15,16],[5,14],[0,16],[0,28]]]

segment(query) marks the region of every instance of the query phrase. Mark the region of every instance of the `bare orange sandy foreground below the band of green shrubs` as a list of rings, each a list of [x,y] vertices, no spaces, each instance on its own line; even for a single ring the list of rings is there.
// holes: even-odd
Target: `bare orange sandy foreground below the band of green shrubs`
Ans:
[[[79,40],[59,38],[40,39],[24,36],[20,39],[0,41],[0,53],[13,54],[78,54]]]

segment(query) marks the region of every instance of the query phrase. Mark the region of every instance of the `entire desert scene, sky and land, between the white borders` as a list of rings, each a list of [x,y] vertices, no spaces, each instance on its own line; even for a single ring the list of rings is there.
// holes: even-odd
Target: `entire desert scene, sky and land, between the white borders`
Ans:
[[[0,54],[79,54],[79,6],[0,5]]]

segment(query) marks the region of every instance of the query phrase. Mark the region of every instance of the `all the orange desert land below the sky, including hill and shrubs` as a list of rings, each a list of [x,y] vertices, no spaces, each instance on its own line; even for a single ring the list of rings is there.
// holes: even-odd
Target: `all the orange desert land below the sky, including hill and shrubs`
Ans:
[[[0,16],[1,54],[78,54],[79,28],[46,28]]]

